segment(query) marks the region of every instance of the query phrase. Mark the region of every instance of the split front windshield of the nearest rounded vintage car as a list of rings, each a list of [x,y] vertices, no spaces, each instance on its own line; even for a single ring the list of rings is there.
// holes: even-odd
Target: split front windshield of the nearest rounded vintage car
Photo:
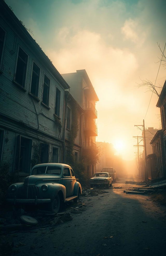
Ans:
[[[47,170],[46,170],[47,167]],[[38,166],[32,170],[31,175],[40,175],[40,174],[61,174],[61,168],[57,166]]]

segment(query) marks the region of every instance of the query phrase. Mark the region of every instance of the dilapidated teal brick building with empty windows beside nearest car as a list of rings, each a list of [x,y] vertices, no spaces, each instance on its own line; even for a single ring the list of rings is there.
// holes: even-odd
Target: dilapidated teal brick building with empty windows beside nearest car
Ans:
[[[64,161],[69,85],[4,1],[0,35],[0,159],[26,176],[36,163]]]

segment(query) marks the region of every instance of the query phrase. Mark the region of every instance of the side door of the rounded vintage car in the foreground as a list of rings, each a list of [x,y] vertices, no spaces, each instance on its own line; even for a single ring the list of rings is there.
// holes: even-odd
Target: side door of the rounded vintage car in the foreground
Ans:
[[[70,174],[70,168],[63,168],[63,185],[66,187],[66,197],[72,196],[72,177]]]

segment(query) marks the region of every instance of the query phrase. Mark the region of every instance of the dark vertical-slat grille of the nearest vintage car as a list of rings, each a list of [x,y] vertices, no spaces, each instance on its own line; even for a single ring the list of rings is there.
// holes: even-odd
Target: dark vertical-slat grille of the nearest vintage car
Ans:
[[[35,199],[39,198],[39,187],[37,186],[22,186],[17,190],[18,199]]]

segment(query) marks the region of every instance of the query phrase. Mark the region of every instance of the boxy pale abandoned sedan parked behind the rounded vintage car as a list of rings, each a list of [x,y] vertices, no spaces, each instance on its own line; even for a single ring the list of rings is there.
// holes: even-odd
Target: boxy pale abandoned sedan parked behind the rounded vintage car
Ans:
[[[90,186],[105,185],[107,188],[112,187],[113,179],[108,172],[96,172],[90,179]]]

